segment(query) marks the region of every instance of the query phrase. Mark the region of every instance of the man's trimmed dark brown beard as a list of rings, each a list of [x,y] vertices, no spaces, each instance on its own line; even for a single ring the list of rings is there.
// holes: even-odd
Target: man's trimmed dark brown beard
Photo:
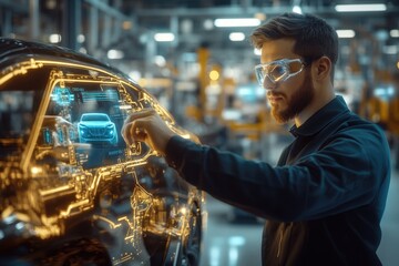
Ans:
[[[272,105],[272,114],[278,123],[286,123],[299,114],[314,99],[315,88],[308,71],[306,71],[304,83],[297,91],[291,94],[290,99],[283,95],[287,100],[287,109],[279,110],[278,105]]]

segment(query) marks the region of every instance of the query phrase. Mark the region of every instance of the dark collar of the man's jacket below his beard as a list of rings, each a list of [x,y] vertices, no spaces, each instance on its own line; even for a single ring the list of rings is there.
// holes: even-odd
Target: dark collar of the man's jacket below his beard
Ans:
[[[289,132],[295,136],[311,136],[330,123],[339,114],[349,112],[342,96],[336,96],[314,115],[311,115],[303,125],[297,127],[293,125]]]

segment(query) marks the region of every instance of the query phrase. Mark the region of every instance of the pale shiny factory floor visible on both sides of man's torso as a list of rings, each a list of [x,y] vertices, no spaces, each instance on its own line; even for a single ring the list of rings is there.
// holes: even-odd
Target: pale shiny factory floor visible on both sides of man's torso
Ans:
[[[385,266],[399,265],[399,172],[392,171],[382,241],[378,255]],[[236,209],[207,196],[207,228],[203,237],[201,266],[256,266],[260,263],[263,222],[252,216],[235,218]],[[238,213],[239,214],[239,213]]]

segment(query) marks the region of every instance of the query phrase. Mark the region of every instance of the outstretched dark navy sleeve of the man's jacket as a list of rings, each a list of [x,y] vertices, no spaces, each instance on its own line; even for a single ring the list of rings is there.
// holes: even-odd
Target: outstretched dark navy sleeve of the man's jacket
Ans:
[[[389,168],[389,156],[376,140],[365,146],[350,136],[337,137],[294,165],[275,167],[180,136],[170,141],[166,156],[183,178],[212,196],[265,218],[291,222],[370,203]]]

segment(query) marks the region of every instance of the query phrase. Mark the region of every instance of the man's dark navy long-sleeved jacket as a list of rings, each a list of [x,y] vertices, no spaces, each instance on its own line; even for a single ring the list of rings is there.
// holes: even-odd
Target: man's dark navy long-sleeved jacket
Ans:
[[[166,160],[198,188],[267,219],[264,265],[380,265],[390,181],[383,132],[340,96],[290,132],[277,166],[178,136]]]

